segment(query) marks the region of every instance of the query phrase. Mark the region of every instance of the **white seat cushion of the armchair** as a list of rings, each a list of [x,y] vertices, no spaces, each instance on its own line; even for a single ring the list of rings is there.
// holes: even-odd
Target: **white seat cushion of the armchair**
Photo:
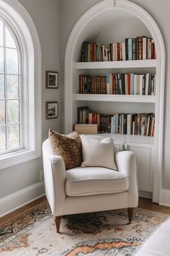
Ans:
[[[113,194],[126,191],[128,187],[128,177],[109,168],[76,167],[66,171],[66,195],[69,197]]]

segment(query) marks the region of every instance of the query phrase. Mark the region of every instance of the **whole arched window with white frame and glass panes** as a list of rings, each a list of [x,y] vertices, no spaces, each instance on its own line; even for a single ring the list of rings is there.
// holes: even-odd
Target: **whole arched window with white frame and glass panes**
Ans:
[[[22,4],[0,0],[0,169],[41,155],[41,48]]]

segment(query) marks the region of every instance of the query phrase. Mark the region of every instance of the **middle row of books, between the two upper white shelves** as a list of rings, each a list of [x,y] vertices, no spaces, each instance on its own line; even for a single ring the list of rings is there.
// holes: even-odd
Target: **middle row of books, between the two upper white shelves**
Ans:
[[[79,93],[121,94],[121,95],[155,95],[155,74],[112,74],[91,77],[80,74]]]

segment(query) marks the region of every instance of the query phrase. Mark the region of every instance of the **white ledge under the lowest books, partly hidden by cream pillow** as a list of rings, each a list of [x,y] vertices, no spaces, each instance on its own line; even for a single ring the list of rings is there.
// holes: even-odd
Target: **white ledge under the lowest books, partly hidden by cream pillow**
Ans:
[[[88,136],[88,135],[87,135]],[[89,135],[91,136],[91,135]],[[142,135],[115,135],[112,133],[99,133],[94,136],[112,137],[115,142],[132,142],[147,145],[154,145],[154,137]]]

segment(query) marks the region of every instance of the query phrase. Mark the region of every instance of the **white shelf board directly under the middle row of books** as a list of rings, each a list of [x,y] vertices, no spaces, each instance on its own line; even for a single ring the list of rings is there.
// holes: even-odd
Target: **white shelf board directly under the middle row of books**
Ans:
[[[75,94],[76,101],[109,101],[156,103],[156,96],[151,95],[114,95],[114,94]]]

